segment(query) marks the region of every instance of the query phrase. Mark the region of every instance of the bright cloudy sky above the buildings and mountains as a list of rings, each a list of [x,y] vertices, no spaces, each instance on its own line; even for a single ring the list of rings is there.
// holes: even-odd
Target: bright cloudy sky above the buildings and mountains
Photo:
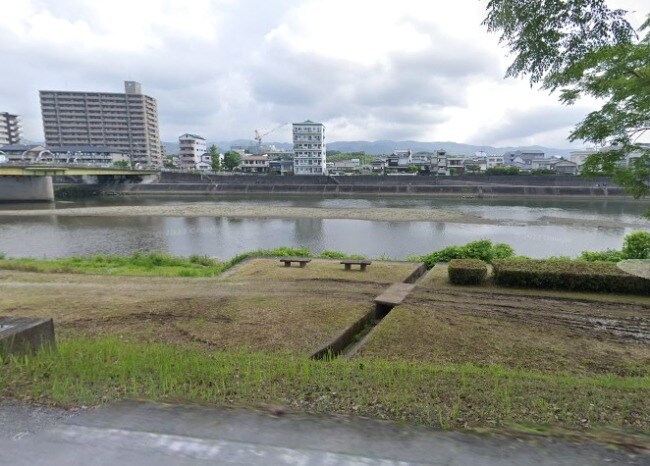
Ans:
[[[610,4],[638,24],[646,1]],[[509,59],[481,26],[486,3],[0,0],[0,111],[42,140],[39,89],[121,92],[135,80],[158,100],[165,141],[250,139],[311,119],[330,141],[570,147],[593,103],[564,107],[503,79]],[[290,129],[267,139],[289,142]]]

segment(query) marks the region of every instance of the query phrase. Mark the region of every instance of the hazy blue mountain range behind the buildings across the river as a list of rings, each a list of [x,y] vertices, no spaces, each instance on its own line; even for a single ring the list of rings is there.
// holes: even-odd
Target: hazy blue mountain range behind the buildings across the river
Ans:
[[[208,147],[216,145],[221,152],[229,150],[232,146],[255,146],[257,143],[250,139],[236,139],[234,141],[208,142]],[[264,144],[274,145],[278,149],[291,150],[292,144],[286,142],[265,142]],[[163,142],[168,154],[178,154],[178,142]],[[475,146],[472,144],[461,144],[452,141],[335,141],[327,143],[327,150],[337,150],[339,152],[365,152],[366,154],[390,154],[398,149],[411,149],[413,152],[427,151],[434,152],[438,149],[444,149],[451,155],[474,155],[474,153],[483,151],[487,154],[502,155],[504,152],[512,150],[535,149],[541,150],[547,157],[559,155],[568,157],[573,149],[556,149],[544,146]]]

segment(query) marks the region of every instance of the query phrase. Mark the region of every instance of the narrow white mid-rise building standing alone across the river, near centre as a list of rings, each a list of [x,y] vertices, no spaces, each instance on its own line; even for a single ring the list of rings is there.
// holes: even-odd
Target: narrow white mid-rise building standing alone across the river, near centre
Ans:
[[[293,124],[294,175],[326,175],[325,125],[307,120]]]

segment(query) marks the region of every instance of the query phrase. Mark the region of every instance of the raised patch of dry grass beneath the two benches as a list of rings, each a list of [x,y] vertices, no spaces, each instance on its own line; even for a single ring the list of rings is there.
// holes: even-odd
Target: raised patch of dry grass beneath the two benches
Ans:
[[[380,262],[373,261],[365,272],[353,266],[353,270],[345,270],[340,260],[312,259],[305,267],[298,264],[285,267],[280,259],[251,259],[240,264],[232,271],[225,281],[354,281],[366,283],[394,283],[406,279],[419,264],[412,262]]]

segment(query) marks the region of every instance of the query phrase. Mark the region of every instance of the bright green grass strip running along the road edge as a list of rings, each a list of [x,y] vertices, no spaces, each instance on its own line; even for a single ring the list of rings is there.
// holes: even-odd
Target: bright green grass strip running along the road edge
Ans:
[[[0,361],[0,394],[60,405],[124,398],[280,404],[438,428],[554,425],[648,432],[648,377],[577,377],[472,364],[314,361],[205,353],[117,338],[65,339],[57,352]],[[646,438],[647,440],[647,438]]]

